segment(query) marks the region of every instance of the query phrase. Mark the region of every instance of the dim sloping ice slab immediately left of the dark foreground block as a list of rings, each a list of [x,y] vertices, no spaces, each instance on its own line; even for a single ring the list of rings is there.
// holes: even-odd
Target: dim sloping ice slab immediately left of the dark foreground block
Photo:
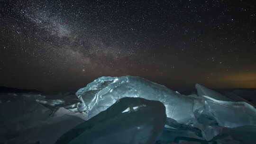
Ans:
[[[23,130],[5,144],[55,144],[61,135],[82,122],[84,120],[81,118],[70,115],[49,117],[36,126]]]

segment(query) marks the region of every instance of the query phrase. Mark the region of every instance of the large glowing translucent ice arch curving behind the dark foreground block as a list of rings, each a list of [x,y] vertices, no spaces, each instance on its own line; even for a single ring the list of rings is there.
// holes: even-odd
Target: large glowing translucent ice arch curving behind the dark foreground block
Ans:
[[[181,95],[163,85],[140,77],[101,77],[78,90],[76,95],[82,101],[78,109],[90,110],[89,117],[106,110],[118,99],[140,97],[161,101],[165,105],[167,117],[179,123],[189,123],[194,120],[193,97]]]

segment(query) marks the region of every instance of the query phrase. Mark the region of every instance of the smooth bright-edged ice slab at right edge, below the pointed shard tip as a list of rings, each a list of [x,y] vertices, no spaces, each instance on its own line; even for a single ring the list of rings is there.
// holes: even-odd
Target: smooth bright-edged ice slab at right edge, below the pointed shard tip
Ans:
[[[207,114],[214,117],[219,126],[238,127],[245,125],[256,125],[256,109],[246,102],[231,102],[205,98],[205,109]]]

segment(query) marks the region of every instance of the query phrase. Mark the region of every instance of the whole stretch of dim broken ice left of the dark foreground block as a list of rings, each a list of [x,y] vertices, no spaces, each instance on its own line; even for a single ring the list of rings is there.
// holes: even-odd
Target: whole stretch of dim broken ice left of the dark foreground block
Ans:
[[[58,107],[58,102],[64,98],[59,95],[41,95],[31,93],[1,93],[0,100],[0,144],[54,144],[58,137],[74,126],[88,119],[85,113],[79,113],[75,109]],[[68,108],[75,96],[66,96]],[[47,104],[37,101],[52,102],[49,108]],[[9,102],[8,102],[9,101]],[[51,108],[51,109],[50,109]]]

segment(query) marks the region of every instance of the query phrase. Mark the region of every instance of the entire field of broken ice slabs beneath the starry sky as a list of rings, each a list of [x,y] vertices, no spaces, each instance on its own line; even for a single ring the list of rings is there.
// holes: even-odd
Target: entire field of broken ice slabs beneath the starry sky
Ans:
[[[242,90],[195,87],[185,96],[123,76],[92,81],[78,99],[0,94],[0,144],[256,144],[256,109]]]

